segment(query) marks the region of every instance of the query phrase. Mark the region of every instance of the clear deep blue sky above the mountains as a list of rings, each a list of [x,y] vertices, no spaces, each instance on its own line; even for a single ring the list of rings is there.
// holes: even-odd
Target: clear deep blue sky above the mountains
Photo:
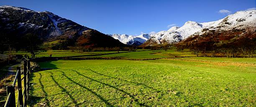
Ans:
[[[105,34],[140,35],[255,10],[256,0],[0,0],[0,5],[50,11]]]

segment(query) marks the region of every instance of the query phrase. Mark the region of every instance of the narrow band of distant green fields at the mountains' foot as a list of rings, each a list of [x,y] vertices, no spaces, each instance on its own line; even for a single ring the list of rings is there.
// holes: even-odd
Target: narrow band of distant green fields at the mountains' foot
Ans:
[[[77,52],[76,50],[53,50],[53,51],[42,51],[36,57],[49,57],[50,53],[52,57],[65,57],[65,56],[73,56],[73,57],[91,57],[91,56],[84,56],[84,55],[99,55],[99,56],[92,56],[92,57],[120,57],[124,59],[156,59],[156,58],[174,58],[177,56],[189,56],[195,57],[194,54],[191,54],[189,50],[183,51],[175,51],[175,49],[169,49],[168,51],[164,50],[137,50],[135,52],[128,52],[128,51],[100,51],[100,52]],[[128,52],[128,53],[122,53]],[[109,55],[100,55],[105,53],[113,53]],[[115,53],[115,54],[114,54]],[[29,55],[30,53],[26,51],[18,51],[16,54],[20,55]]]

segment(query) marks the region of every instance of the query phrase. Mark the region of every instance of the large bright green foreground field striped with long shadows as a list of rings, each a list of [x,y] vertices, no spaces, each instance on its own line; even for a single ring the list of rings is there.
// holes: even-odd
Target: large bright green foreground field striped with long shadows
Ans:
[[[154,52],[97,57],[170,58],[41,62],[52,70],[33,73],[29,105],[256,106],[255,58],[172,59],[190,52]]]

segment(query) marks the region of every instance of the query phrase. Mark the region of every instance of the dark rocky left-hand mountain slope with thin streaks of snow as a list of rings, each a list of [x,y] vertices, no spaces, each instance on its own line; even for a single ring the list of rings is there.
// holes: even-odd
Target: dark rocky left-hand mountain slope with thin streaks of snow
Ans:
[[[84,31],[87,31],[87,33],[83,33]],[[88,42],[82,43],[79,39],[85,36],[91,38],[92,36],[100,35],[100,39],[105,40],[100,42],[100,44],[105,45],[100,46],[125,46],[123,43],[109,38],[103,33],[79,25],[72,20],[61,18],[51,12],[37,12],[13,6],[0,6],[0,33],[3,33],[3,35],[15,35],[17,38],[27,33],[33,33],[45,42],[61,40],[61,43],[68,43],[63,46],[72,46],[79,41],[81,46],[89,45],[95,47],[99,44],[97,39],[90,39],[91,44],[88,44]],[[110,43],[113,41],[116,43]]]

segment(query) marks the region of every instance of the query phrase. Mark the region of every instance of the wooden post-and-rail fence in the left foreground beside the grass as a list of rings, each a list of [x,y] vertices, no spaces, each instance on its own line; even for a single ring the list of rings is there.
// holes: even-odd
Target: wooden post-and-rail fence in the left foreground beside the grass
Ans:
[[[27,107],[27,100],[29,94],[29,74],[31,73],[31,65],[29,59],[24,59],[24,71],[23,77],[21,78],[20,67],[17,67],[17,73],[15,79],[13,81],[13,85],[7,86],[7,100],[5,102],[5,107]],[[23,89],[22,89],[22,81]],[[17,103],[15,101],[15,85],[18,85],[18,100]],[[22,91],[23,90],[23,91]]]

